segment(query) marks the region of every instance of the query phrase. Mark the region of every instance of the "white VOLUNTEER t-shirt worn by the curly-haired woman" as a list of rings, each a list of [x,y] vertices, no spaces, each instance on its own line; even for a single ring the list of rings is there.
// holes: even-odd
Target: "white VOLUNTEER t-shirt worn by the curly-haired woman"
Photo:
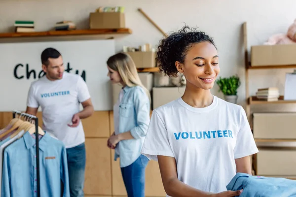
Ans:
[[[174,157],[178,179],[205,192],[226,191],[234,159],[258,152],[244,109],[213,96],[195,108],[182,98],[153,110],[142,154]]]

